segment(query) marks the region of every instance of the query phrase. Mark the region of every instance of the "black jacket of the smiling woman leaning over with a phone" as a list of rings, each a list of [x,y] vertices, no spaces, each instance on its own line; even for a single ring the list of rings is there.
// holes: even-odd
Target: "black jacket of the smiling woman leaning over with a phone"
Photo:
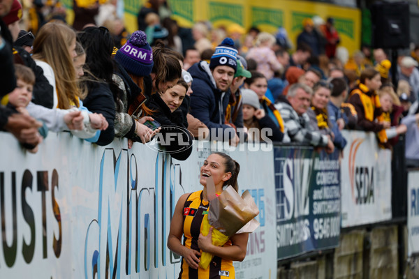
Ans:
[[[186,160],[192,152],[193,136],[186,130],[187,123],[186,114],[182,114],[179,108],[175,112],[170,112],[169,107],[160,98],[159,93],[152,95],[149,101],[149,108],[154,110],[152,117],[161,124],[161,136],[157,135],[157,139],[163,138],[166,142],[159,142],[165,147],[166,152],[170,153],[172,158],[177,160]],[[176,137],[168,142],[168,134],[175,133]],[[181,142],[182,140],[182,142]]]

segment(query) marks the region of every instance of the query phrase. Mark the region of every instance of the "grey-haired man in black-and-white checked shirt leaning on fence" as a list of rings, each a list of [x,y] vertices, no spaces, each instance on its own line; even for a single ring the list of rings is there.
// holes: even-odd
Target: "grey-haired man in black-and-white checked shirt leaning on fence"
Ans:
[[[313,146],[325,147],[325,151],[332,153],[335,149],[332,140],[327,135],[310,129],[310,119],[307,110],[310,107],[313,91],[305,84],[296,83],[290,87],[286,100],[277,103],[275,107],[284,119],[287,142],[300,142]]]

